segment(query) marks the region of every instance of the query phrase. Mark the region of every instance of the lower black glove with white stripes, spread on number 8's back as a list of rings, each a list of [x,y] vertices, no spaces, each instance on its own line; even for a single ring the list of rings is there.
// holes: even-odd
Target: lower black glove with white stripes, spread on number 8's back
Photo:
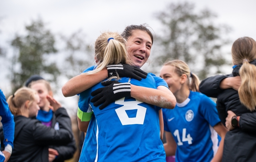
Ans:
[[[106,86],[103,88],[96,89],[91,92],[91,96],[95,96],[91,99],[94,106],[99,106],[99,109],[104,109],[107,105],[119,100],[123,97],[131,96],[131,83],[120,83],[119,81],[105,81],[101,83]]]

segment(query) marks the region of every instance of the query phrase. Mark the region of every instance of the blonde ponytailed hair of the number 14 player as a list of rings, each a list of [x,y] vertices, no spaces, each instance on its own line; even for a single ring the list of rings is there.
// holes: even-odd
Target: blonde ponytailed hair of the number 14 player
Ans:
[[[179,76],[181,76],[182,74],[186,74],[188,78],[187,82],[189,85],[189,89],[194,92],[199,92],[200,80],[196,74],[191,73],[188,65],[184,61],[182,60],[167,61],[166,63],[164,63],[164,66],[166,65],[174,66],[175,67],[174,72]],[[189,77],[191,77],[191,82],[189,81]]]

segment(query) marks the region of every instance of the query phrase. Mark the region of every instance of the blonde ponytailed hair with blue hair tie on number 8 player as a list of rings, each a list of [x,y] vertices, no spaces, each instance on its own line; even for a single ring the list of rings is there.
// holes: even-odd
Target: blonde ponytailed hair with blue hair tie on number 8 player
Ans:
[[[95,58],[98,61],[98,66],[95,70],[83,74],[98,73],[108,64],[123,63],[132,65],[125,43],[125,39],[116,32],[102,33],[95,42]]]

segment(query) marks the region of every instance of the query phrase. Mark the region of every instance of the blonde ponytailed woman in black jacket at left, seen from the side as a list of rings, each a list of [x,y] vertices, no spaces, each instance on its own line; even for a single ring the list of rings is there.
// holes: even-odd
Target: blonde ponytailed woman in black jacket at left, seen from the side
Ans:
[[[48,100],[56,114],[60,114],[62,108],[58,107],[51,96]],[[43,125],[40,121],[33,119],[40,109],[38,106],[39,96],[37,92],[29,88],[18,89],[9,96],[8,105],[14,115],[15,134],[14,149],[9,162],[45,162],[48,160],[49,145],[64,145],[72,141],[72,132],[62,125],[64,116],[56,115],[56,120],[60,123],[59,130]],[[70,123],[71,124],[71,123]]]

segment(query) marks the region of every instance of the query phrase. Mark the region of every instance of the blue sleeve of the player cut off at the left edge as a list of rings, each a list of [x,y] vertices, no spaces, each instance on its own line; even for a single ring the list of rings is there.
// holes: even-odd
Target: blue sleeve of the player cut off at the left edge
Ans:
[[[2,124],[4,130],[4,145],[10,144],[13,147],[14,139],[14,120],[13,114],[11,113],[9,106],[6,102],[6,98],[0,89],[0,116],[2,117]],[[6,139],[8,141],[6,141]]]

